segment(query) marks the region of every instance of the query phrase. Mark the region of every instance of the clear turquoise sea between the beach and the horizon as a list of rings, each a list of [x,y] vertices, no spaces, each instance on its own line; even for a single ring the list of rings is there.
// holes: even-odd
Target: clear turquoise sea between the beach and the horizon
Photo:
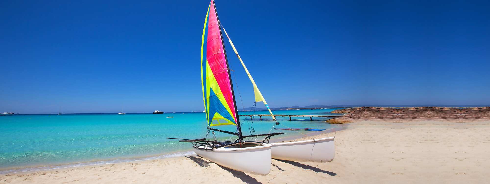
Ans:
[[[335,109],[275,110],[274,114],[339,115]],[[268,111],[244,111],[239,114],[268,114]],[[167,118],[174,116],[174,118]],[[245,119],[245,120],[244,120]],[[270,117],[241,117],[244,135],[268,133],[274,126]],[[290,128],[340,129],[323,121],[328,118],[277,117]],[[278,125],[275,128],[286,128]],[[79,165],[115,163],[141,159],[168,158],[194,154],[192,144],[175,138],[206,137],[202,112],[113,114],[33,114],[0,116],[0,174]],[[236,131],[235,126],[214,127]],[[295,131],[274,138],[301,136]],[[314,133],[313,131],[301,131]],[[212,135],[211,135],[212,136]],[[221,140],[229,134],[216,132]],[[230,140],[235,140],[232,137]]]

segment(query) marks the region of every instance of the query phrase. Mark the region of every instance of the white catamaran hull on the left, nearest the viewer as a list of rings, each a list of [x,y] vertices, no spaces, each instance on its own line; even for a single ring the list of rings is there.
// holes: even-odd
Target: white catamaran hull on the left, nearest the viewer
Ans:
[[[268,175],[271,164],[271,145],[248,148],[199,149],[194,152],[218,165],[256,175]]]

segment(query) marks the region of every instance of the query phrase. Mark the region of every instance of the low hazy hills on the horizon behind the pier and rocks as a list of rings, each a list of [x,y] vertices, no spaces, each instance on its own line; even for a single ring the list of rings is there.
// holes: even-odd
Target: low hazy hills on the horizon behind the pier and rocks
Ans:
[[[346,108],[346,107],[360,107],[360,106],[377,106],[377,107],[420,107],[420,106],[439,106],[439,107],[483,107],[490,106],[487,105],[441,105],[441,104],[420,104],[420,105],[375,105],[375,104],[361,104],[361,105],[307,105],[307,106],[290,106],[290,107],[271,107],[271,110],[286,110],[288,108],[301,109],[301,108]],[[255,109],[252,107],[247,108],[239,108],[239,111],[249,111],[249,110],[267,110],[267,108],[258,108]]]

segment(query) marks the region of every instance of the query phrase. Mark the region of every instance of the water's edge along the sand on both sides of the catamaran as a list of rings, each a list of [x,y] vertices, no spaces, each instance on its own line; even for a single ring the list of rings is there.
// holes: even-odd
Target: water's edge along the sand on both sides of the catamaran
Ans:
[[[316,136],[319,134],[331,133],[335,131],[342,131],[347,129],[347,125],[340,125],[339,127],[330,128],[325,131],[311,131],[304,133],[307,136]],[[286,137],[280,137],[275,139],[270,139],[270,143],[275,142],[288,142],[293,141],[295,139],[303,138],[304,135],[290,135]],[[190,145],[192,146],[192,145]],[[182,158],[196,156],[192,150],[188,151],[180,151],[180,152],[171,152],[168,154],[156,154],[156,155],[147,155],[141,157],[127,157],[127,158],[115,158],[115,159],[107,159],[107,160],[95,160],[95,161],[85,161],[85,162],[73,162],[73,163],[63,163],[57,165],[39,165],[39,166],[20,166],[20,167],[5,167],[0,168],[0,175],[7,174],[23,174],[23,173],[31,173],[31,172],[41,172],[41,171],[51,171],[56,169],[67,169],[74,167],[89,167],[96,165],[105,165],[105,164],[119,164],[119,163],[127,163],[127,162],[138,162],[138,161],[146,161],[146,160],[155,160],[155,159],[167,159],[167,158]]]

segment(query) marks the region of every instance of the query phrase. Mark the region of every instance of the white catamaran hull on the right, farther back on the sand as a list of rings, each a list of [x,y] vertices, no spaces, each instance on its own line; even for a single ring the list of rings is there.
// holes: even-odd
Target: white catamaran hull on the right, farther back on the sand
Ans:
[[[272,158],[305,162],[330,162],[335,157],[335,137],[295,142],[269,143]]]

